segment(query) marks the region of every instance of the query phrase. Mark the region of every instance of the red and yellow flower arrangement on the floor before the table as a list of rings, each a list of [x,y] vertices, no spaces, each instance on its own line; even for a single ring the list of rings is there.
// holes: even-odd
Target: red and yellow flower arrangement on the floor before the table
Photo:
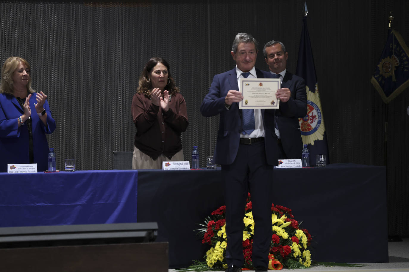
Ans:
[[[205,219],[204,228],[199,229],[202,243],[208,243],[211,248],[206,253],[206,264],[209,268],[226,269],[226,206],[214,210],[211,216]],[[301,229],[300,223],[294,219],[289,208],[271,206],[271,220],[273,235],[271,238],[269,269],[306,268],[311,265],[311,254],[308,247],[311,235],[306,229]],[[252,201],[250,194],[245,206],[243,218],[243,255],[244,268],[254,269],[252,264],[252,244],[254,234],[254,219],[252,215]]]

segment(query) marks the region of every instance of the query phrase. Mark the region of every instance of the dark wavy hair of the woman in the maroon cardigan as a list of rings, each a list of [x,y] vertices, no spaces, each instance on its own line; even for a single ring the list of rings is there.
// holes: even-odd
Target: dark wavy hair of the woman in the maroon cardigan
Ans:
[[[139,77],[139,86],[136,90],[137,93],[144,93],[147,97],[151,97],[152,86],[151,80],[149,79],[149,74],[152,72],[153,67],[155,67],[156,64],[158,63],[162,63],[168,69],[169,80],[168,84],[166,84],[165,86],[165,90],[168,90],[169,94],[171,95],[179,93],[180,90],[176,86],[175,80],[173,80],[173,77],[171,76],[169,63],[166,60],[162,59],[161,57],[153,57],[146,63],[144,70],[142,71],[142,74]]]

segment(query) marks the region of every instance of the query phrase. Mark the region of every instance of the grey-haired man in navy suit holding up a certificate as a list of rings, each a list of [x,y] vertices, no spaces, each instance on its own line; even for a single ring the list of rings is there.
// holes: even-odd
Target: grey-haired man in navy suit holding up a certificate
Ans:
[[[243,100],[240,78],[273,78],[271,73],[254,67],[257,41],[247,33],[238,33],[231,56],[234,69],[215,75],[200,112],[205,117],[220,114],[214,159],[222,166],[225,179],[227,272],[241,271],[243,257],[243,217],[247,192],[252,195],[254,238],[252,262],[256,271],[267,271],[272,237],[272,171],[278,164],[279,146],[274,133],[273,109],[238,108]],[[277,91],[282,113],[290,93]]]

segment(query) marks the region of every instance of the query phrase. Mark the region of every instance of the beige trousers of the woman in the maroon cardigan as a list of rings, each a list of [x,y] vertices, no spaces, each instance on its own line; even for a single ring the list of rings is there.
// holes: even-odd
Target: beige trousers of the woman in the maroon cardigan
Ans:
[[[133,147],[132,169],[162,169],[163,161],[184,161],[183,148],[171,159],[161,154],[154,160],[135,146]]]

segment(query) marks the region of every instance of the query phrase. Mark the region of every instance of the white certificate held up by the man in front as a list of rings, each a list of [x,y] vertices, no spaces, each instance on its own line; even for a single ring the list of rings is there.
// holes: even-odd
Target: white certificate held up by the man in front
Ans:
[[[280,100],[276,98],[279,88],[279,78],[240,78],[240,91],[244,98],[238,103],[238,108],[280,108]]]

